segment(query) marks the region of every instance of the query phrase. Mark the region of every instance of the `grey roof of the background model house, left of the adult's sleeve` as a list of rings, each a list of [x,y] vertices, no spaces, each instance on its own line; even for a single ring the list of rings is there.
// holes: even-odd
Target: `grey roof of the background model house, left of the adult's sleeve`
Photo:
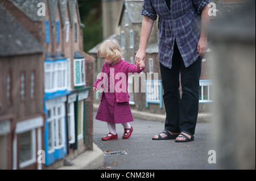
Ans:
[[[126,0],[123,2],[121,14],[119,15],[118,26],[121,25],[125,10],[128,11],[131,23],[142,23],[141,15],[143,0]]]

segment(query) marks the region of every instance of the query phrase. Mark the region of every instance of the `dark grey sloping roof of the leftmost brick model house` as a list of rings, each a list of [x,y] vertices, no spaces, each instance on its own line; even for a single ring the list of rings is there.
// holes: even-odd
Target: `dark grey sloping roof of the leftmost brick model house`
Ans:
[[[0,4],[0,56],[42,53],[42,45]]]

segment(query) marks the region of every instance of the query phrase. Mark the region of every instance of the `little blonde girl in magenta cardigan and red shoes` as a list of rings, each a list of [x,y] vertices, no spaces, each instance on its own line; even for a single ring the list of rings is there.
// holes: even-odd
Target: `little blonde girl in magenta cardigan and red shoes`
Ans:
[[[137,69],[136,65],[122,60],[122,50],[114,39],[104,41],[98,48],[97,55],[102,57],[104,64],[100,77],[93,85],[94,91],[102,88],[96,119],[107,122],[109,128],[109,134],[101,139],[117,140],[115,124],[118,123],[121,123],[125,129],[122,138],[127,139],[133,132],[133,127],[129,124],[133,121],[133,116],[127,90],[128,74],[141,73],[144,70],[144,62],[139,62]]]

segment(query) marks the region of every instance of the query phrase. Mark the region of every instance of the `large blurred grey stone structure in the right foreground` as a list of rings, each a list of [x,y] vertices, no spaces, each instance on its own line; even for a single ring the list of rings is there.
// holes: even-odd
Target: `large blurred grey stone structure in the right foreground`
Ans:
[[[255,1],[212,24],[216,169],[255,169]]]

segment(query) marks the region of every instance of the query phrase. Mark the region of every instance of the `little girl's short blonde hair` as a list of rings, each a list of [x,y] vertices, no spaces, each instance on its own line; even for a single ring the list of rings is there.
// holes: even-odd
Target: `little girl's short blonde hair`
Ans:
[[[105,57],[108,60],[119,61],[123,57],[123,52],[117,40],[105,40],[100,45],[97,52],[98,57]]]

